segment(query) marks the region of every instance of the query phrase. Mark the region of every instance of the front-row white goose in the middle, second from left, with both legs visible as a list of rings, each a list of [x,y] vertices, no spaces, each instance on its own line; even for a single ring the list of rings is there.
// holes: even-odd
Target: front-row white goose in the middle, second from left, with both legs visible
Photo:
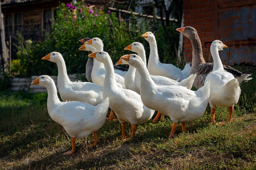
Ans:
[[[135,91],[117,86],[113,63],[107,52],[97,51],[88,56],[94,57],[94,59],[105,65],[106,77],[103,86],[103,97],[109,97],[109,107],[116,113],[117,119],[121,123],[122,136],[126,137],[125,123],[128,122],[132,125],[130,138],[133,138],[136,125],[151,119],[155,111],[144,106],[140,95]]]

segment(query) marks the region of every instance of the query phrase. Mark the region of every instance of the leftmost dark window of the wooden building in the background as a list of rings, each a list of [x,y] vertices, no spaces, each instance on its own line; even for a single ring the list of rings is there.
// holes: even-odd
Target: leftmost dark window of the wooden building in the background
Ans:
[[[5,36],[8,38],[10,35],[13,36],[16,31],[22,32],[23,20],[22,13],[10,13],[4,16],[5,22]]]

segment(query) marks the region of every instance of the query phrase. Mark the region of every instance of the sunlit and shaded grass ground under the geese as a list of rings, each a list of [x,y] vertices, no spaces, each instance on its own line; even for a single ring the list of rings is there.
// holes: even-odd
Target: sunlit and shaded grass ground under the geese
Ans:
[[[168,139],[172,122],[138,125],[135,138],[123,141],[121,125],[106,121],[98,131],[99,145],[87,148],[93,135],[76,140],[47,113],[46,93],[0,92],[0,170],[168,170],[256,169],[256,67],[236,66],[254,73],[241,85],[242,94],[229,123],[210,124],[210,108],[186,125],[178,124]],[[216,108],[216,121],[227,121],[228,109]],[[126,133],[131,134],[130,124]]]

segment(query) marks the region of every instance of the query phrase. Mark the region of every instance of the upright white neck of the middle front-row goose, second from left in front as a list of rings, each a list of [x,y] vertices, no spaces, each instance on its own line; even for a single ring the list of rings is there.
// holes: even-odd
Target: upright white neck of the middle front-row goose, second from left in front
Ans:
[[[115,71],[114,71],[113,63],[110,57],[108,57],[107,62],[104,62],[104,66],[106,69],[106,74],[104,79],[103,91],[109,91],[109,90],[114,91],[116,88],[118,88],[118,86],[115,79]]]

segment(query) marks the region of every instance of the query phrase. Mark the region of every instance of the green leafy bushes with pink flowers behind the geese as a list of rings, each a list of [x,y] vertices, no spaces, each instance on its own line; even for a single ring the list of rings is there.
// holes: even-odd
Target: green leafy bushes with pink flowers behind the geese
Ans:
[[[175,49],[168,48],[168,40],[155,18],[138,20],[134,15],[122,16],[124,18],[115,12],[96,9],[85,2],[59,4],[56,8],[56,17],[51,21],[51,33],[45,32],[43,42],[31,43],[30,40],[24,40],[20,33],[16,33],[18,59],[12,67],[12,72],[18,73],[20,77],[57,75],[56,64],[42,61],[41,58],[52,51],[58,51],[64,57],[68,74],[84,73],[88,52],[78,51],[81,46],[78,40],[85,37],[101,38],[104,51],[110,54],[115,63],[121,55],[130,53],[124,51],[124,47],[132,42],[141,42],[145,44],[147,51],[149,50],[148,42],[141,38],[146,31],[152,31],[156,35],[161,61],[171,62],[175,58]],[[175,23],[173,22],[168,29],[177,42],[178,32],[175,31]]]

